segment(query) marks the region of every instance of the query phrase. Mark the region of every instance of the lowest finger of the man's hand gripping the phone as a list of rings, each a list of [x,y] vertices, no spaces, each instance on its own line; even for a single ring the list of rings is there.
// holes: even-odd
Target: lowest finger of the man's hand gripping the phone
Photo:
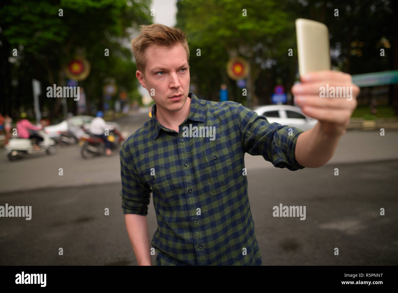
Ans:
[[[302,108],[302,112],[314,119],[322,122],[331,122],[337,124],[345,124],[351,117],[352,111],[341,110],[341,109],[326,109],[318,107],[305,106]]]

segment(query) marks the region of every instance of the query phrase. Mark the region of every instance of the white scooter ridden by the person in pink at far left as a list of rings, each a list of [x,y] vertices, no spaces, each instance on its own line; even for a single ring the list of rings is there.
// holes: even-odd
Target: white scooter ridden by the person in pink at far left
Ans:
[[[56,142],[49,138],[45,131],[38,130],[37,134],[43,137],[43,141],[39,141],[38,145],[41,150],[35,150],[33,148],[31,139],[21,139],[19,137],[11,138],[8,143],[4,146],[6,149],[6,155],[10,161],[17,158],[23,158],[32,154],[39,154],[46,152],[48,155],[53,155],[57,153]]]

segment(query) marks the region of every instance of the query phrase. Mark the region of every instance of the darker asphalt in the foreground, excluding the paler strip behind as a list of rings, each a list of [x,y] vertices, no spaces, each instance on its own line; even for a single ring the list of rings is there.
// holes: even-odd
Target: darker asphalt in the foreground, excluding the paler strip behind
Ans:
[[[397,265],[397,176],[398,160],[341,164],[339,176],[330,165],[248,172],[263,264]],[[136,265],[120,189],[114,183],[2,193],[1,205],[31,205],[32,215],[1,218],[0,265]],[[306,219],[273,217],[280,203],[305,205]],[[152,238],[152,198],[147,217]]]

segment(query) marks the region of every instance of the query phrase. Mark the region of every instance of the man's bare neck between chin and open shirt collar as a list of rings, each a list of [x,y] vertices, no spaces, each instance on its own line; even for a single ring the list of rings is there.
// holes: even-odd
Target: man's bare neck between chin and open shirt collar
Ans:
[[[162,111],[163,110],[163,111]],[[188,117],[191,112],[191,98],[187,98],[185,104],[178,111],[167,111],[159,108],[156,105],[155,117],[161,125],[166,128],[173,129],[176,132],[179,131],[179,125]]]

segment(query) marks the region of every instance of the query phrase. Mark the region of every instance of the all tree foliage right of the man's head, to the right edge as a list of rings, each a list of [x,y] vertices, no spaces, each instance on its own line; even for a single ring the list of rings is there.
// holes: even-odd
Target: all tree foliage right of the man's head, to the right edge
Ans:
[[[297,18],[328,26],[330,46],[336,52],[332,56],[335,69],[350,74],[398,69],[394,57],[398,56],[396,4],[392,2],[179,0],[176,26],[189,38],[191,80],[198,84],[200,96],[218,100],[220,84],[228,83],[230,100],[246,102],[242,91],[225,72],[226,62],[237,52],[251,64],[254,102],[269,104],[277,83],[289,92],[297,78]],[[339,16],[335,16],[336,9]],[[388,41],[383,42],[383,37],[389,40],[390,47],[385,47]],[[382,46],[385,58],[380,58]],[[196,56],[198,48],[201,56]],[[293,56],[288,55],[289,49]]]

